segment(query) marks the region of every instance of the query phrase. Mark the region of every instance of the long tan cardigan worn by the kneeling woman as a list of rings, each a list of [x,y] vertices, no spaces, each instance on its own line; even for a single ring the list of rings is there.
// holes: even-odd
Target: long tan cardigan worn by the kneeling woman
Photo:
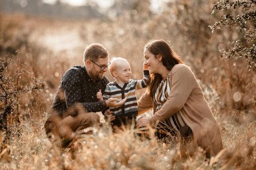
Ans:
[[[192,129],[196,145],[216,155],[222,149],[220,127],[214,118],[195,75],[187,65],[177,64],[171,72],[171,92],[163,107],[155,112],[154,99],[145,92],[138,100],[139,114],[154,108],[150,124],[167,120],[180,112],[184,122]]]

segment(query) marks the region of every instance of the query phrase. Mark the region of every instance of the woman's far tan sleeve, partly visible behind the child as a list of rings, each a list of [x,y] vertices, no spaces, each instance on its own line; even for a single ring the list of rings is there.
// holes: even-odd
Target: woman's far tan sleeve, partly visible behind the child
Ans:
[[[151,96],[144,92],[144,94],[138,100],[138,115],[142,114],[152,108]]]

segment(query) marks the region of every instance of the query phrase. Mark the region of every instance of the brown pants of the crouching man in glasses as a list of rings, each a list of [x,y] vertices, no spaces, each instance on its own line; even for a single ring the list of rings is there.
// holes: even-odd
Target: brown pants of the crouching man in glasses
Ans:
[[[51,114],[44,124],[49,141],[60,147],[67,147],[73,140],[77,131],[98,127],[100,116],[97,113],[80,113],[75,117],[60,117],[58,114]]]

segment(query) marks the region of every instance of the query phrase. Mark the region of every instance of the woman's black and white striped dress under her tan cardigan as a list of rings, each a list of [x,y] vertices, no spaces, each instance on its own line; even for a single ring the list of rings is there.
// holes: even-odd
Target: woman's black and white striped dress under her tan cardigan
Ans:
[[[163,104],[166,103],[168,97],[170,96],[171,92],[171,78],[170,74],[166,80],[162,80],[159,84],[158,88],[156,89],[154,95],[154,101],[157,105],[156,111],[163,107]],[[180,128],[186,126],[185,122],[180,116],[180,113],[177,112],[173,116],[169,117],[165,122],[161,124],[163,129],[168,129],[168,131],[179,131]],[[164,126],[164,127],[163,127]]]

